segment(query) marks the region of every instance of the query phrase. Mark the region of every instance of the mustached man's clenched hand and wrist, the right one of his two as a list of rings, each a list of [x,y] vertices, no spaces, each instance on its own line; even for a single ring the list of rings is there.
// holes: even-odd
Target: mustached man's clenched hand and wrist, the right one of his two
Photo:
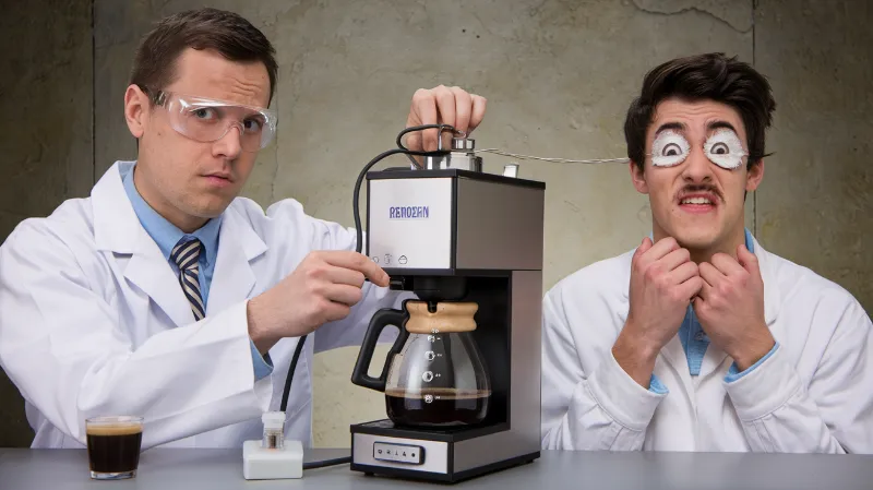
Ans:
[[[713,255],[701,264],[704,279],[694,312],[709,339],[733,358],[740,371],[773,349],[775,340],[764,320],[764,280],[757,258],[745,246],[737,258]]]

